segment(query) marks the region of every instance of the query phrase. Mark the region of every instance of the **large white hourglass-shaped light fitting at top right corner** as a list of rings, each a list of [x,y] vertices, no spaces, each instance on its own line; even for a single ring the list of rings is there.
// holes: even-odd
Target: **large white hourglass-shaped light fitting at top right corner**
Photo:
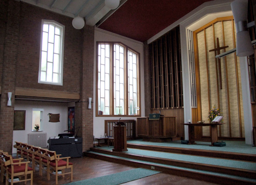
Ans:
[[[231,3],[237,30],[237,56],[246,57],[253,54],[253,47],[247,31],[247,0],[235,0]]]

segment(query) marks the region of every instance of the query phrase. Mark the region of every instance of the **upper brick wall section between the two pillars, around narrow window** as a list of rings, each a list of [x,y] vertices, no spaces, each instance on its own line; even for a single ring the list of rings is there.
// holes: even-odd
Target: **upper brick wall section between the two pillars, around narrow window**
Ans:
[[[20,2],[20,32],[17,56],[17,87],[80,92],[82,31],[72,26],[72,18]],[[63,86],[38,83],[42,19],[65,26]],[[28,82],[29,81],[29,82]]]

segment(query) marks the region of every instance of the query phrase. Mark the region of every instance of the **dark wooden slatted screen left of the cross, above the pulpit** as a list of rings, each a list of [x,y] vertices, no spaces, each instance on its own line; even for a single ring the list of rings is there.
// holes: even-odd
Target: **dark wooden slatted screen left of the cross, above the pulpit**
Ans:
[[[183,107],[180,29],[174,28],[149,45],[151,108]]]

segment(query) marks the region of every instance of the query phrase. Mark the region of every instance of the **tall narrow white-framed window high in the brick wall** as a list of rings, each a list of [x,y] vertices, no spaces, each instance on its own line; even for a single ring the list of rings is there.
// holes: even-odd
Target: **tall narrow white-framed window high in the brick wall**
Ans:
[[[42,20],[38,83],[62,85],[65,27]]]

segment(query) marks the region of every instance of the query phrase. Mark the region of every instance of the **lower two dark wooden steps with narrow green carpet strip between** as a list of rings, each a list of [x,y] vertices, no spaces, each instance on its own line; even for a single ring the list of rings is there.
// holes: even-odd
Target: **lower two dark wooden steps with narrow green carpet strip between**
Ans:
[[[90,152],[85,152],[84,154],[89,157],[111,162],[114,161],[115,163],[155,169],[165,173],[182,175],[218,184],[256,184],[254,170],[129,154],[129,149],[128,152],[112,152],[110,149],[91,148]]]

